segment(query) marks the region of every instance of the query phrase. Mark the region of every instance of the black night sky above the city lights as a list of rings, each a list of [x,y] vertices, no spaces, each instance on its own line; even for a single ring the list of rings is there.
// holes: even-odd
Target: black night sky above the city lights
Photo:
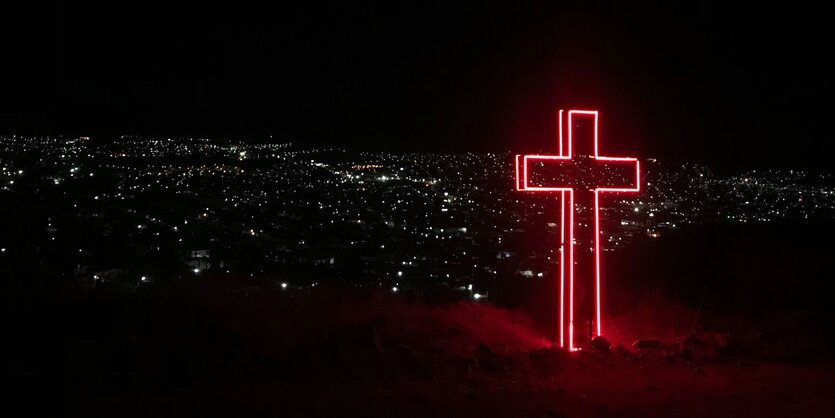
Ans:
[[[825,10],[356,3],[7,11],[0,132],[532,151],[556,109],[591,107],[614,155],[831,165]]]

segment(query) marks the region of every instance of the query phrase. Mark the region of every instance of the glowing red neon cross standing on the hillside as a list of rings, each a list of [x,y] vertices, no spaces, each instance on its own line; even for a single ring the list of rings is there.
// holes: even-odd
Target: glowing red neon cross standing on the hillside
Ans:
[[[568,126],[568,139],[563,139],[563,115],[562,110],[559,111],[559,155],[517,155],[516,156],[516,190],[526,192],[559,192],[560,201],[560,300],[559,300],[559,323],[560,323],[560,346],[565,347],[565,339],[567,333],[568,348],[570,350],[577,350],[574,346],[574,270],[577,264],[578,270],[582,273],[593,274],[593,277],[586,277],[586,283],[594,282],[594,322],[596,323],[596,335],[601,335],[603,326],[600,318],[600,292],[601,292],[601,273],[600,273],[600,193],[606,192],[638,192],[641,189],[641,175],[640,163],[636,158],[621,158],[621,157],[603,157],[598,153],[598,112],[596,110],[569,110],[567,112],[567,119],[565,125]],[[594,135],[593,138],[588,138],[593,141],[594,153],[589,155],[593,164],[591,173],[592,180],[588,178],[581,179],[580,176],[571,176],[569,181],[559,185],[537,185],[532,184],[530,179],[530,168],[534,165],[541,167],[550,165],[552,169],[565,174],[573,173],[575,166],[575,155],[572,153],[572,145],[574,143],[574,129],[577,121],[580,118],[594,118]],[[591,135],[589,135],[591,136]],[[584,138],[585,140],[585,138]],[[586,143],[585,145],[590,145]],[[589,148],[589,147],[587,147]],[[589,149],[589,154],[591,150]],[[535,164],[539,163],[539,164]],[[556,165],[556,166],[554,166]],[[600,177],[607,171],[617,171],[627,168],[629,175],[625,176],[624,183],[617,183],[610,179],[609,184],[600,184]],[[631,174],[634,168],[635,174]],[[609,176],[611,177],[611,176]],[[623,177],[623,176],[622,176]],[[608,177],[607,177],[608,178]],[[583,205],[575,206],[575,195],[578,195],[578,202],[585,203],[586,208],[594,205],[594,226],[589,227],[588,231],[593,236],[588,237],[589,242],[594,242],[594,247],[590,249],[594,255],[594,260],[591,257],[578,257],[578,262],[575,262],[575,246],[578,241],[574,236],[574,215],[575,212],[582,211]],[[566,228],[566,217],[568,217],[568,228]],[[567,240],[566,240],[567,236]],[[566,246],[566,242],[571,245]],[[582,251],[582,250],[581,250]],[[566,253],[568,256],[568,263],[565,262]],[[583,252],[581,252],[583,253]],[[585,251],[584,254],[588,254]],[[585,260],[584,260],[585,259]],[[594,263],[592,266],[582,266],[585,263]],[[583,268],[581,268],[583,267]],[[565,277],[568,276],[568,318],[566,321],[566,304],[565,304]]]

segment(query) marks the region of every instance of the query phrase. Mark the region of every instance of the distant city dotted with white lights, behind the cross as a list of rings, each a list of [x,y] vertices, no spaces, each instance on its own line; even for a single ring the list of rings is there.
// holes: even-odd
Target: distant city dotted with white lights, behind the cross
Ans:
[[[131,286],[199,274],[476,294],[485,281],[554,274],[555,201],[515,192],[511,153],[0,135],[0,155],[0,194],[15,202],[4,209],[0,264],[17,275],[35,274],[27,260],[45,253],[53,280]],[[602,202],[604,251],[693,225],[835,216],[835,174],[641,166],[639,194]],[[537,181],[558,179],[549,175]]]

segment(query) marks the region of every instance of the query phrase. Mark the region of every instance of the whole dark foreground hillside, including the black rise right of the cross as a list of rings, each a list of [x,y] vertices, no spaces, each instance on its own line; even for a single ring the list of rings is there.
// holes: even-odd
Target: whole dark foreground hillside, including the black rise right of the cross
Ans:
[[[725,235],[714,241],[717,233]],[[817,281],[826,247],[804,244],[805,236],[795,228],[683,233],[611,257],[610,269],[626,263],[622,275],[607,276],[614,344],[578,353],[550,345],[552,324],[535,309],[427,306],[376,286],[300,291],[204,278],[133,293],[8,289],[8,408],[90,416],[831,416],[831,307]],[[638,338],[658,341],[635,348]]]

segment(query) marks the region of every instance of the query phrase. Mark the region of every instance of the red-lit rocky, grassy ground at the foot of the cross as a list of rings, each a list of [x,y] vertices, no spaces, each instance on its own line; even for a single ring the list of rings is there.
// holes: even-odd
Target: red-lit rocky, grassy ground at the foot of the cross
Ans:
[[[568,353],[524,312],[463,302],[429,307],[383,293],[288,297],[222,288],[28,302],[18,300],[16,312],[27,326],[7,329],[19,350],[8,366],[17,398],[39,394],[27,400],[30,411],[236,417],[835,411],[835,365],[826,350],[793,356],[799,349],[759,331],[631,335],[637,316],[612,318],[620,332],[611,346],[599,341]],[[50,402],[42,401],[44,393]]]

